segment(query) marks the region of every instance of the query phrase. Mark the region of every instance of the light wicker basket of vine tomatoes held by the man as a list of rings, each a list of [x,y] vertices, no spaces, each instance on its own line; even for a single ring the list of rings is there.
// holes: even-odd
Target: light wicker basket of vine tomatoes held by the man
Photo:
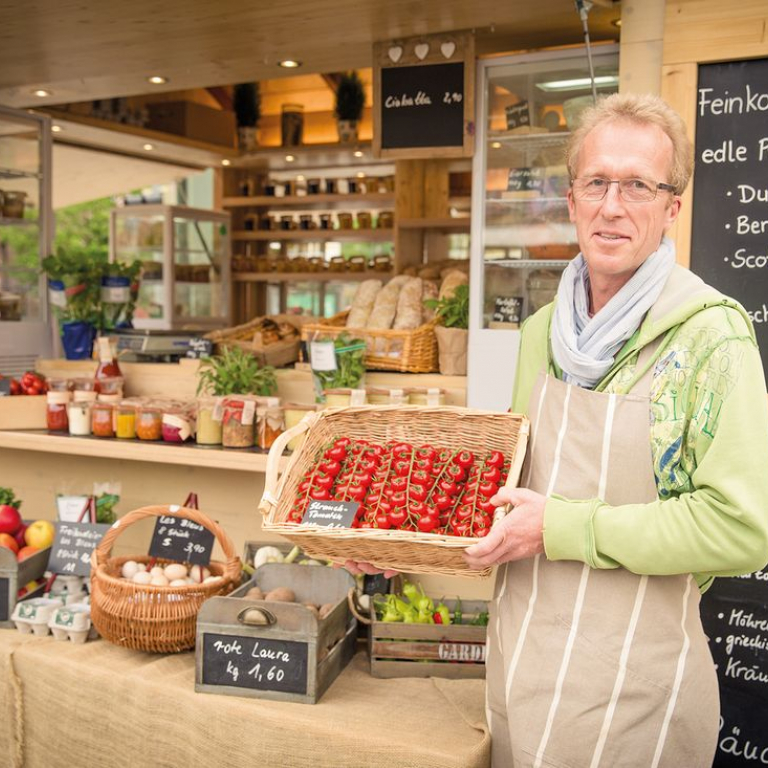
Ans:
[[[307,432],[300,450],[291,456],[278,481],[278,463],[289,440]],[[277,438],[269,451],[264,496],[259,509],[263,529],[290,539],[310,557],[343,563],[367,561],[378,568],[407,573],[485,577],[490,568],[474,571],[466,564],[464,550],[478,539],[415,531],[365,528],[322,528],[287,522],[298,485],[310,470],[319,449],[345,435],[383,444],[388,440],[433,443],[453,450],[476,453],[499,450],[511,459],[506,485],[517,485],[528,442],[528,419],[512,413],[495,413],[444,406],[356,406],[328,408],[309,413]],[[496,510],[494,525],[504,516]]]

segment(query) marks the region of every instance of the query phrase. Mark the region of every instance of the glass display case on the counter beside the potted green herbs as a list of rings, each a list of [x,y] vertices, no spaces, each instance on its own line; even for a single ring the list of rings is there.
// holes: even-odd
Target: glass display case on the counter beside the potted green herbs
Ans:
[[[191,330],[230,322],[228,213],[172,205],[115,208],[110,259],[142,263],[133,324]]]

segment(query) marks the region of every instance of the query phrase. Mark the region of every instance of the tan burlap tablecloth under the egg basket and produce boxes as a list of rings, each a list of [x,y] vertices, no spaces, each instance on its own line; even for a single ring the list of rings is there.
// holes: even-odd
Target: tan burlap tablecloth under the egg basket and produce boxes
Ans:
[[[482,680],[378,680],[358,653],[320,703],[195,693],[193,653],[0,630],[0,765],[487,768]]]

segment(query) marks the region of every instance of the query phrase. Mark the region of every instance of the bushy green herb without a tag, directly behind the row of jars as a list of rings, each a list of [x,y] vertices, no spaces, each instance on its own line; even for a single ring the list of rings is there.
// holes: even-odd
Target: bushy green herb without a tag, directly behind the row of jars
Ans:
[[[203,358],[197,394],[263,395],[277,392],[275,369],[260,366],[258,360],[240,347],[225,347],[220,355]]]

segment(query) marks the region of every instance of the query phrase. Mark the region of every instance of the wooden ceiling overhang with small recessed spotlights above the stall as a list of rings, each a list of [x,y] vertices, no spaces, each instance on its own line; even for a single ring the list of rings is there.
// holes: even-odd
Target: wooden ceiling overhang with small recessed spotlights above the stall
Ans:
[[[618,2],[594,3],[592,38],[616,39]],[[0,104],[15,107],[370,67],[375,41],[435,32],[474,29],[478,55],[582,41],[573,0],[0,0],[0,19]]]

